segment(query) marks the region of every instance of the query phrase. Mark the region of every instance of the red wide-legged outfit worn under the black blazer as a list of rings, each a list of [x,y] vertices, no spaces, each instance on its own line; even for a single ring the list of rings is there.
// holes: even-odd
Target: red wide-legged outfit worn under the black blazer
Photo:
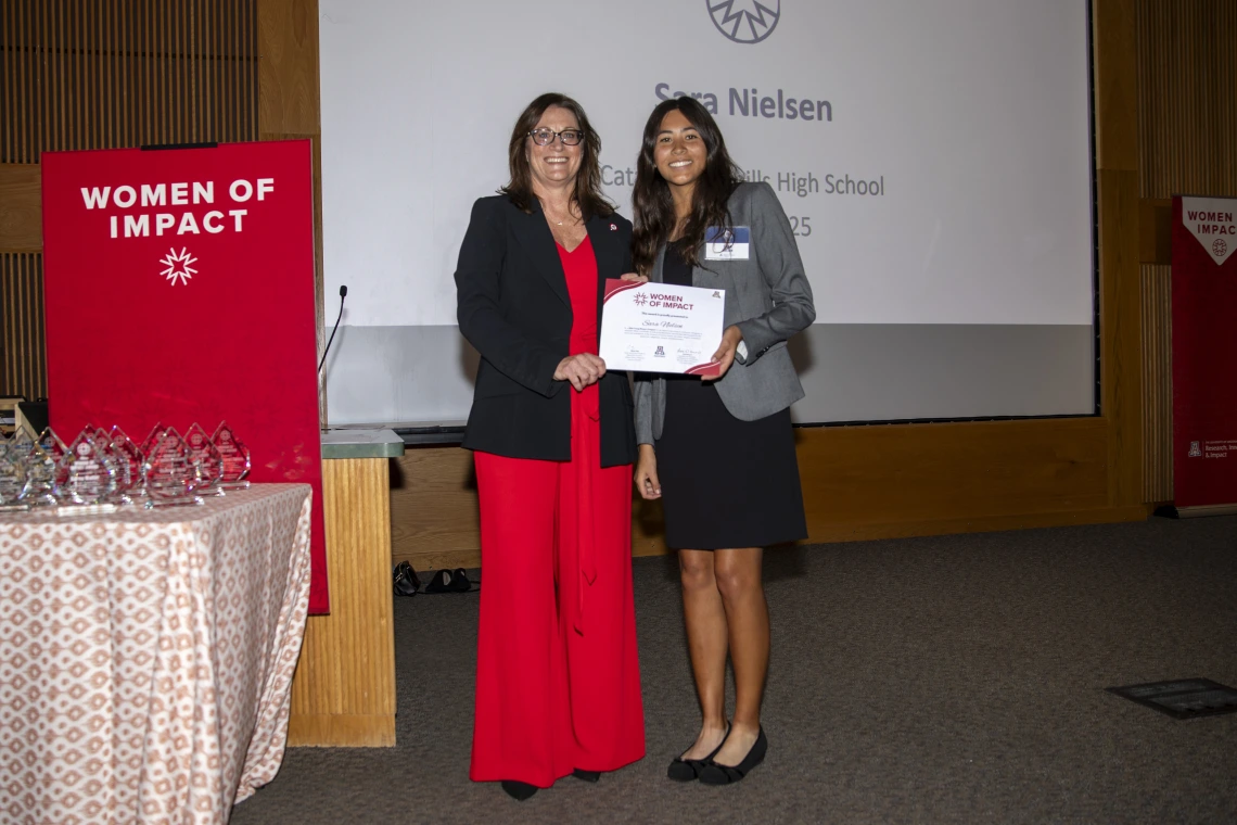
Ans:
[[[597,351],[597,262],[558,247],[570,354]],[[571,460],[475,453],[485,586],[475,782],[548,788],[644,756],[631,591],[631,465],[601,468],[597,385],[571,393]]]

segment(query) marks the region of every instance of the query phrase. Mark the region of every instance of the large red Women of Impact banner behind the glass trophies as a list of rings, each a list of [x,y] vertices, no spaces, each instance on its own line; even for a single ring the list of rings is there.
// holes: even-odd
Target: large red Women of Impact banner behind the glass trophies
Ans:
[[[309,141],[45,152],[42,174],[52,427],[226,421],[252,481],[313,485],[327,612]]]

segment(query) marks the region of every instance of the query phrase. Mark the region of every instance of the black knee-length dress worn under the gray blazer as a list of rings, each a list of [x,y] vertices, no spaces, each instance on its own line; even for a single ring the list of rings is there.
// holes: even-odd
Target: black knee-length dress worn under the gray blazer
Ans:
[[[663,280],[691,286],[679,241],[666,250]],[[740,421],[713,383],[669,375],[654,447],[669,547],[720,550],[808,537],[789,409]]]

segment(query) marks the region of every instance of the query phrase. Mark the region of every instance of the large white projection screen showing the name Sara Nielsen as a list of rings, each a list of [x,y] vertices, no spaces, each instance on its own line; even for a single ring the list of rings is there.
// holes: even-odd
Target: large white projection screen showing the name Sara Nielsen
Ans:
[[[699,98],[798,234],[799,423],[1095,412],[1085,0],[320,0],[330,423],[459,423],[453,272],[516,116],[578,99],[631,214],[644,119]]]

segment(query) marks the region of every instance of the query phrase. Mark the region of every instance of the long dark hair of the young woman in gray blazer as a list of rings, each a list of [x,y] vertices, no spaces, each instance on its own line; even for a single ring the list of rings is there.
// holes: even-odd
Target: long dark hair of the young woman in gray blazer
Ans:
[[[653,151],[657,148],[657,132],[662,129],[662,120],[675,109],[695,126],[696,132],[704,139],[708,152],[704,174],[696,178],[691,195],[691,214],[683,228],[683,237],[687,240],[683,256],[691,266],[699,263],[696,251],[710,226],[731,228],[726,202],[743,182],[743,171],[730,160],[717,122],[699,100],[684,96],[657,104],[653,114],[648,116],[648,122],[644,124],[644,140],[636,160],[636,188],[631,197],[636,225],[631,237],[632,259],[636,271],[641,275],[648,275],[653,268],[658,247],[667,242],[674,231],[674,200],[670,197],[670,186],[657,171]]]

